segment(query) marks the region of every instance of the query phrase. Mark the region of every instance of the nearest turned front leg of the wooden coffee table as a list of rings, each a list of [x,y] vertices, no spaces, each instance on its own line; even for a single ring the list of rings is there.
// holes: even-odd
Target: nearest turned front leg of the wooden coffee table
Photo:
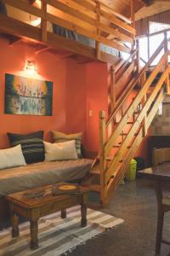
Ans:
[[[37,231],[38,231],[37,220],[31,220],[30,222],[31,250],[35,250],[38,247]]]

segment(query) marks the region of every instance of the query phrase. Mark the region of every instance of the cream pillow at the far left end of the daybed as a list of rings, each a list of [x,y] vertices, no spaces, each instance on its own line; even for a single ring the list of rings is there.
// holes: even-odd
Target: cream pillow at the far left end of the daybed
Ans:
[[[0,169],[14,166],[26,166],[20,145],[14,148],[0,149]]]

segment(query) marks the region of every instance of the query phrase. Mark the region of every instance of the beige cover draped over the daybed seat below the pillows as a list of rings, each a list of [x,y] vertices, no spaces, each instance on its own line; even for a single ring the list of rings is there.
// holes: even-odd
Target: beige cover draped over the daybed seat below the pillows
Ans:
[[[0,170],[0,196],[84,177],[93,160],[44,161]]]

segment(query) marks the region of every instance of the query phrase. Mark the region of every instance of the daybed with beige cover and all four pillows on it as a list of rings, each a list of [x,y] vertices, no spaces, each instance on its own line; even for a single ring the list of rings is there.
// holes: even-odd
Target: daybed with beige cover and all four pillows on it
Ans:
[[[43,141],[43,131],[7,133],[11,148],[0,150],[0,226],[8,220],[10,193],[59,183],[82,181],[93,160],[83,159],[82,133],[52,131],[54,143]]]

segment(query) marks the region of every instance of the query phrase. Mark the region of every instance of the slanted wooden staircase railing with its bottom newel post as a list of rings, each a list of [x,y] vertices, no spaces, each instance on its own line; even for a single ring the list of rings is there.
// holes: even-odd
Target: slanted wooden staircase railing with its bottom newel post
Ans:
[[[162,49],[164,49],[164,54],[161,60],[146,79],[145,73],[148,67]],[[126,89],[118,98],[110,118],[106,121],[105,112],[99,113],[100,192],[103,205],[108,202],[113,190],[116,189],[127,171],[129,160],[133,158],[146,135],[158,106],[162,102],[164,92],[169,92],[168,55],[167,38],[165,38],[145,67],[127,84]],[[162,72],[161,78],[156,86],[152,87],[151,84],[159,72]],[[131,97],[131,103],[128,102],[128,108],[123,113],[123,104],[132,92],[135,97],[134,99]],[[122,116],[119,116],[117,121],[116,117],[120,112]]]

